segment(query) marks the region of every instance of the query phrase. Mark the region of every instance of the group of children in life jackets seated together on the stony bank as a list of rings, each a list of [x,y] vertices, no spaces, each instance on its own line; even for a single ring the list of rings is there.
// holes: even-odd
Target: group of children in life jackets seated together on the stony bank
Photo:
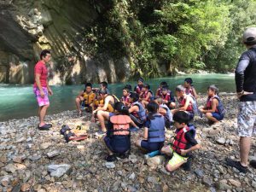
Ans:
[[[104,136],[108,150],[106,160],[126,157],[131,150],[131,131],[144,127],[136,146],[146,150],[150,157],[155,154],[172,155],[166,165],[166,170],[172,172],[180,166],[188,167],[190,152],[200,148],[195,140],[195,126],[189,124],[195,113],[204,113],[212,124],[224,118],[218,88],[209,86],[206,106],[197,108],[198,96],[192,83],[192,79],[188,78],[183,85],[176,87],[177,104],[166,82],[160,83],[154,96],[149,84],[144,84],[143,78],[140,78],[134,91],[130,84],[125,85],[120,100],[109,93],[106,82],[101,83],[100,89],[93,89],[88,83],[76,98],[76,106],[79,114],[82,113],[82,104],[92,112],[92,120],[99,121],[101,131],[97,134]],[[107,127],[105,120],[108,121]],[[176,128],[175,137],[164,146],[166,128],[171,125]]]

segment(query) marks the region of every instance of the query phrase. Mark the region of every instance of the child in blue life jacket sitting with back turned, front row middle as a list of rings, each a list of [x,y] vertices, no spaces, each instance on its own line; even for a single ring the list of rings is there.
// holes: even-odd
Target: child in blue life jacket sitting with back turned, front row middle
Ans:
[[[145,149],[148,153],[160,150],[165,142],[165,119],[159,113],[156,102],[149,102],[147,105],[148,119],[143,132],[143,139],[137,140],[136,146]]]

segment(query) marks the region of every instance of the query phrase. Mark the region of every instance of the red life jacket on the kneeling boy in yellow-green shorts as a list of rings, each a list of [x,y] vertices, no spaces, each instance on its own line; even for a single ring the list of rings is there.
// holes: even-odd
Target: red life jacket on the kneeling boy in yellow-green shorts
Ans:
[[[172,149],[177,153],[180,153],[180,149],[187,149],[188,141],[185,137],[185,133],[188,131],[193,131],[193,136],[195,137],[195,126],[194,125],[186,125],[183,129],[179,129],[176,131],[176,136],[174,137],[174,142],[172,143]]]

